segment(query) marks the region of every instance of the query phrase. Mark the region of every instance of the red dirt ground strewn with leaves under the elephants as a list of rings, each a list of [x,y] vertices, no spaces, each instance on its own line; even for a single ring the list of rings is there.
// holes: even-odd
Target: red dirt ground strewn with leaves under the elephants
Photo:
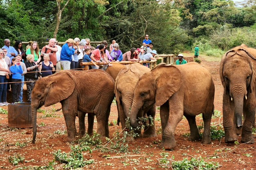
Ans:
[[[219,62],[217,61],[206,61],[203,58],[201,65],[207,68],[213,77],[215,83],[215,110],[222,112],[222,94],[223,87],[220,82],[219,77]],[[60,108],[60,103],[50,106],[50,107],[42,107],[43,110],[51,111],[52,108],[58,109]],[[7,110],[7,106],[2,107]],[[62,138],[67,134],[55,134],[58,130],[59,132],[63,132],[66,130],[66,125],[64,121],[64,117],[62,116],[62,112],[56,112],[57,117],[43,117],[42,113],[38,113],[37,123],[38,125],[44,123],[46,126],[38,127],[36,143],[31,144],[32,141],[32,128],[26,129],[15,129],[8,128],[8,119],[7,115],[0,114],[0,169],[32,169],[33,166],[46,166],[49,165],[49,161],[54,159],[53,152],[61,149],[61,151],[69,152],[70,151],[70,143],[63,143]],[[221,113],[222,115],[222,113]],[[161,122],[159,121],[159,110],[157,110],[156,115],[156,128],[159,130],[161,128]],[[115,104],[112,104],[111,113],[109,121],[117,120],[117,108]],[[197,125],[201,125],[202,117],[197,117]],[[212,119],[212,125],[222,125],[222,117]],[[78,130],[78,119],[76,119],[76,126]],[[87,127],[86,120],[86,127]],[[94,129],[97,130],[97,122],[95,119]],[[121,127],[119,126],[109,126],[110,138],[113,138],[113,134],[115,131],[121,131]],[[161,130],[160,130],[161,131]],[[55,133],[54,133],[55,132]],[[159,148],[161,140],[161,133],[158,132],[157,137],[151,138],[139,138],[134,142],[128,143],[129,152],[128,153],[103,153],[100,150],[95,150],[91,154],[88,152],[83,152],[84,159],[90,160],[93,159],[95,162],[90,165],[86,165],[81,169],[100,169],[100,170],[118,170],[118,169],[168,169],[167,167],[161,167],[158,162],[159,159],[162,158],[160,153],[166,152],[169,154],[169,159],[175,156],[175,161],[183,160],[183,158],[190,159],[191,157],[206,157],[210,155],[215,155],[216,153],[219,155],[215,155],[215,157],[207,157],[204,160],[207,162],[218,162],[221,167],[221,170],[253,170],[256,169],[256,153],[255,146],[256,144],[226,144],[224,143],[224,139],[222,138],[221,142],[218,140],[212,141],[211,144],[202,144],[200,141],[191,142],[188,141],[187,137],[184,137],[184,133],[189,132],[189,126],[186,119],[182,119],[182,121],[178,124],[175,133],[175,139],[177,141],[177,146],[174,150],[163,150]],[[28,134],[27,134],[28,133]],[[239,141],[241,136],[239,136]],[[15,143],[19,141],[19,143],[27,142],[24,147],[15,146]],[[235,148],[237,146],[237,148]],[[234,149],[235,148],[235,149]],[[139,152],[133,152],[133,150],[138,149]],[[234,149],[234,150],[233,150]],[[226,152],[226,153],[225,153]],[[222,154],[220,154],[222,153]],[[17,166],[13,166],[8,162],[8,158],[15,154],[20,154],[25,157],[23,163],[19,163]],[[252,157],[247,157],[245,154],[251,154]],[[110,156],[119,156],[116,158],[106,159],[103,155]],[[121,157],[121,155],[126,155],[125,157]],[[136,156],[130,156],[136,155]],[[34,160],[32,160],[34,159]],[[158,160],[157,160],[158,159]],[[30,161],[32,160],[32,161]],[[30,162],[27,162],[30,161]],[[55,169],[64,169],[63,165],[56,161],[58,164],[54,165]],[[170,161],[171,162],[171,161]],[[35,168],[36,169],[36,168]],[[172,169],[172,168],[169,168]],[[197,169],[197,168],[195,168]]]

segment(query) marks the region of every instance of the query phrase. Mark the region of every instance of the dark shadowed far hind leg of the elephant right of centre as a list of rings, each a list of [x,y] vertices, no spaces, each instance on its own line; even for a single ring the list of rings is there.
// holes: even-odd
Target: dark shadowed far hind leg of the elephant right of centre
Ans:
[[[190,135],[188,136],[189,141],[196,141],[199,140],[199,130],[198,127],[196,126],[196,117],[195,116],[190,116],[184,112],[184,116],[186,117],[189,128],[190,128]]]

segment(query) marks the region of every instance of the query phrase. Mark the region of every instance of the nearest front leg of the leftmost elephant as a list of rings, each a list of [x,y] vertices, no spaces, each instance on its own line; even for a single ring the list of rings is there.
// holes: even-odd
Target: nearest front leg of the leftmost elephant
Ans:
[[[72,104],[70,101],[77,101],[76,99],[72,98],[71,96],[68,98],[70,100],[63,100],[61,101],[62,111],[66,122],[67,133],[68,136],[63,138],[63,142],[73,142],[76,141],[76,108],[77,104]],[[74,102],[73,102],[74,103]]]

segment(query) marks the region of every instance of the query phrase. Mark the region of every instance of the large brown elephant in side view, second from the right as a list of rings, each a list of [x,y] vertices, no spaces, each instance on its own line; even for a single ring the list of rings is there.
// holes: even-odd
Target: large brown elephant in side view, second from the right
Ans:
[[[203,113],[204,132],[202,143],[211,143],[210,123],[214,112],[214,83],[210,72],[198,63],[183,65],[160,65],[145,73],[138,81],[130,113],[131,125],[135,128],[138,111],[156,103],[160,106],[162,142],[160,148],[176,146],[175,128],[187,118],[190,128],[188,140],[199,139],[196,115]]]

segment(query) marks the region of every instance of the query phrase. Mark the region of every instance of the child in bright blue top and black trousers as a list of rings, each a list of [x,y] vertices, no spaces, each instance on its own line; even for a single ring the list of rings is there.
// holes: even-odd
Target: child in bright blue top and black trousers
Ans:
[[[19,102],[20,89],[21,89],[21,74],[23,74],[23,69],[18,62],[17,58],[12,58],[12,66],[10,67],[12,74],[12,103]],[[19,83],[15,83],[19,82]]]

